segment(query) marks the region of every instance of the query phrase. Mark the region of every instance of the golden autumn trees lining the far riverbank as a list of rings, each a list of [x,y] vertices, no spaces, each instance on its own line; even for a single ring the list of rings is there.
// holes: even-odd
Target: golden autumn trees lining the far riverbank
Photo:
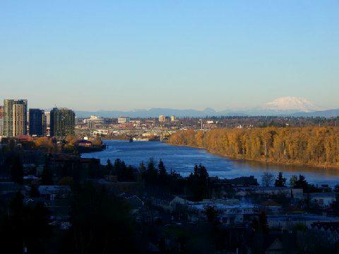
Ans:
[[[339,127],[187,130],[168,143],[239,159],[339,167]]]

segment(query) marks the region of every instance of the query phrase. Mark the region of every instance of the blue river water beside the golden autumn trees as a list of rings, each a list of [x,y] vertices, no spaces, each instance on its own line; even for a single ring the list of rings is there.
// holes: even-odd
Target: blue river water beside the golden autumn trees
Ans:
[[[255,176],[258,181],[264,171],[278,175],[283,171],[290,179],[293,174],[303,174],[310,183],[335,186],[339,183],[339,169],[323,169],[304,166],[286,166],[265,164],[259,162],[234,161],[218,155],[211,155],[205,150],[191,147],[177,147],[160,142],[128,142],[121,140],[105,140],[107,149],[102,152],[83,154],[85,158],[98,158],[102,164],[107,159],[123,159],[126,164],[138,166],[141,161],[147,162],[150,157],[162,159],[167,170],[173,169],[182,176],[187,176],[194,168],[194,164],[203,164],[210,176],[220,178],[234,178],[238,176]]]

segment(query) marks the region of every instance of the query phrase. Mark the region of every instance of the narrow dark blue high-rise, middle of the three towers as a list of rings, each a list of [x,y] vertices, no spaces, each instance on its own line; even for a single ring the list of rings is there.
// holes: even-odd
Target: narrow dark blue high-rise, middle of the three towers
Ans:
[[[46,118],[44,116],[44,110],[30,109],[28,112],[30,120],[30,135],[37,137],[46,135]]]

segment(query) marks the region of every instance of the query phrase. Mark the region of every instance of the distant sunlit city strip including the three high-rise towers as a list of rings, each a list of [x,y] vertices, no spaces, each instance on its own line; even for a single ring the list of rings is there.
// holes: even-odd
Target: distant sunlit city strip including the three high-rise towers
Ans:
[[[256,128],[265,126],[336,126],[337,117],[303,116],[186,116],[160,114],[157,118],[91,115],[78,118],[75,111],[66,108],[28,109],[27,99],[4,99],[0,106],[0,137],[20,135],[31,137],[66,138],[105,137],[109,139],[161,140],[177,130],[213,128]]]

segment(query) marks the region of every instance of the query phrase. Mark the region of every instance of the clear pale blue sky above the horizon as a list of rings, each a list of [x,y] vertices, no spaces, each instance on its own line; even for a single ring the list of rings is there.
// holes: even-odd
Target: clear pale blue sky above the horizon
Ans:
[[[0,99],[73,109],[339,108],[338,0],[0,1]]]

